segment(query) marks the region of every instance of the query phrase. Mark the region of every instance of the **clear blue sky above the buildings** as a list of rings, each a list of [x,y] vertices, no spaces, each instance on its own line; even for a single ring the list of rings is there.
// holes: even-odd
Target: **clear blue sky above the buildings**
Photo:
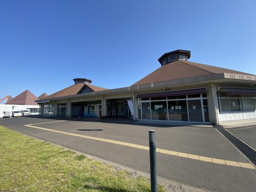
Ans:
[[[256,74],[256,1],[0,2],[0,99],[36,96],[89,78],[129,87],[166,52]]]

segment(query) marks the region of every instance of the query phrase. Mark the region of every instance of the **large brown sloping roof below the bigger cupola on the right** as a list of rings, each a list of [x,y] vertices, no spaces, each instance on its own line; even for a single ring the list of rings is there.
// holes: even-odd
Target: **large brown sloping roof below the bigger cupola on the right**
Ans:
[[[145,76],[138,82],[134,83],[132,86],[137,86],[139,84],[153,83],[153,82],[182,79],[182,78],[188,78],[188,77],[196,77],[196,76],[202,76],[202,75],[218,74],[218,73],[234,73],[234,74],[242,74],[242,75],[252,75],[252,74],[229,70],[225,68],[208,66],[208,65],[204,65],[196,62],[177,60],[158,68],[156,71]]]

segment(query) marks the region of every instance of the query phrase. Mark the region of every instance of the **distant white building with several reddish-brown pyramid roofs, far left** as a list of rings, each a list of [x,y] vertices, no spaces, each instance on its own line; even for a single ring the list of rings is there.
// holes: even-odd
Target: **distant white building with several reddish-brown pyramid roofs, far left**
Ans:
[[[46,93],[40,95],[38,98],[31,93],[29,90],[26,90],[16,97],[12,98],[10,95],[7,97],[5,104],[0,104],[0,118],[5,116],[11,116],[12,111],[21,111],[29,110],[31,115],[39,114],[39,105],[35,100],[43,99]],[[8,115],[7,115],[8,114]]]

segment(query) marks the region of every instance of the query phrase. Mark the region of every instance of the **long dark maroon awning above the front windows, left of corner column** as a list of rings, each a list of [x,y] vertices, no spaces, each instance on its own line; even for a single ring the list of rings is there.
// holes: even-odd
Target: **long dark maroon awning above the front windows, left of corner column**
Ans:
[[[137,98],[194,95],[194,94],[200,94],[200,93],[206,93],[206,88],[137,94]]]

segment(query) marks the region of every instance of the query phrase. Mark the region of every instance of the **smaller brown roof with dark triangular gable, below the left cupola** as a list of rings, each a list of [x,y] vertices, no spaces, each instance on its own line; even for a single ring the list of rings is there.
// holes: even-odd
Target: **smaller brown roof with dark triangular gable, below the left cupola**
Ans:
[[[88,86],[90,89],[92,89],[94,92],[96,91],[103,91],[107,90],[105,88],[100,88],[96,86],[92,86],[91,84],[84,84],[84,83],[77,83],[73,84],[73,86],[70,86],[68,88],[65,88],[63,90],[60,90],[56,93],[53,93],[51,95],[48,95],[45,98],[42,99],[48,99],[48,98],[53,98],[53,97],[63,97],[63,96],[68,96],[68,95],[76,95],[78,94],[85,86]]]

